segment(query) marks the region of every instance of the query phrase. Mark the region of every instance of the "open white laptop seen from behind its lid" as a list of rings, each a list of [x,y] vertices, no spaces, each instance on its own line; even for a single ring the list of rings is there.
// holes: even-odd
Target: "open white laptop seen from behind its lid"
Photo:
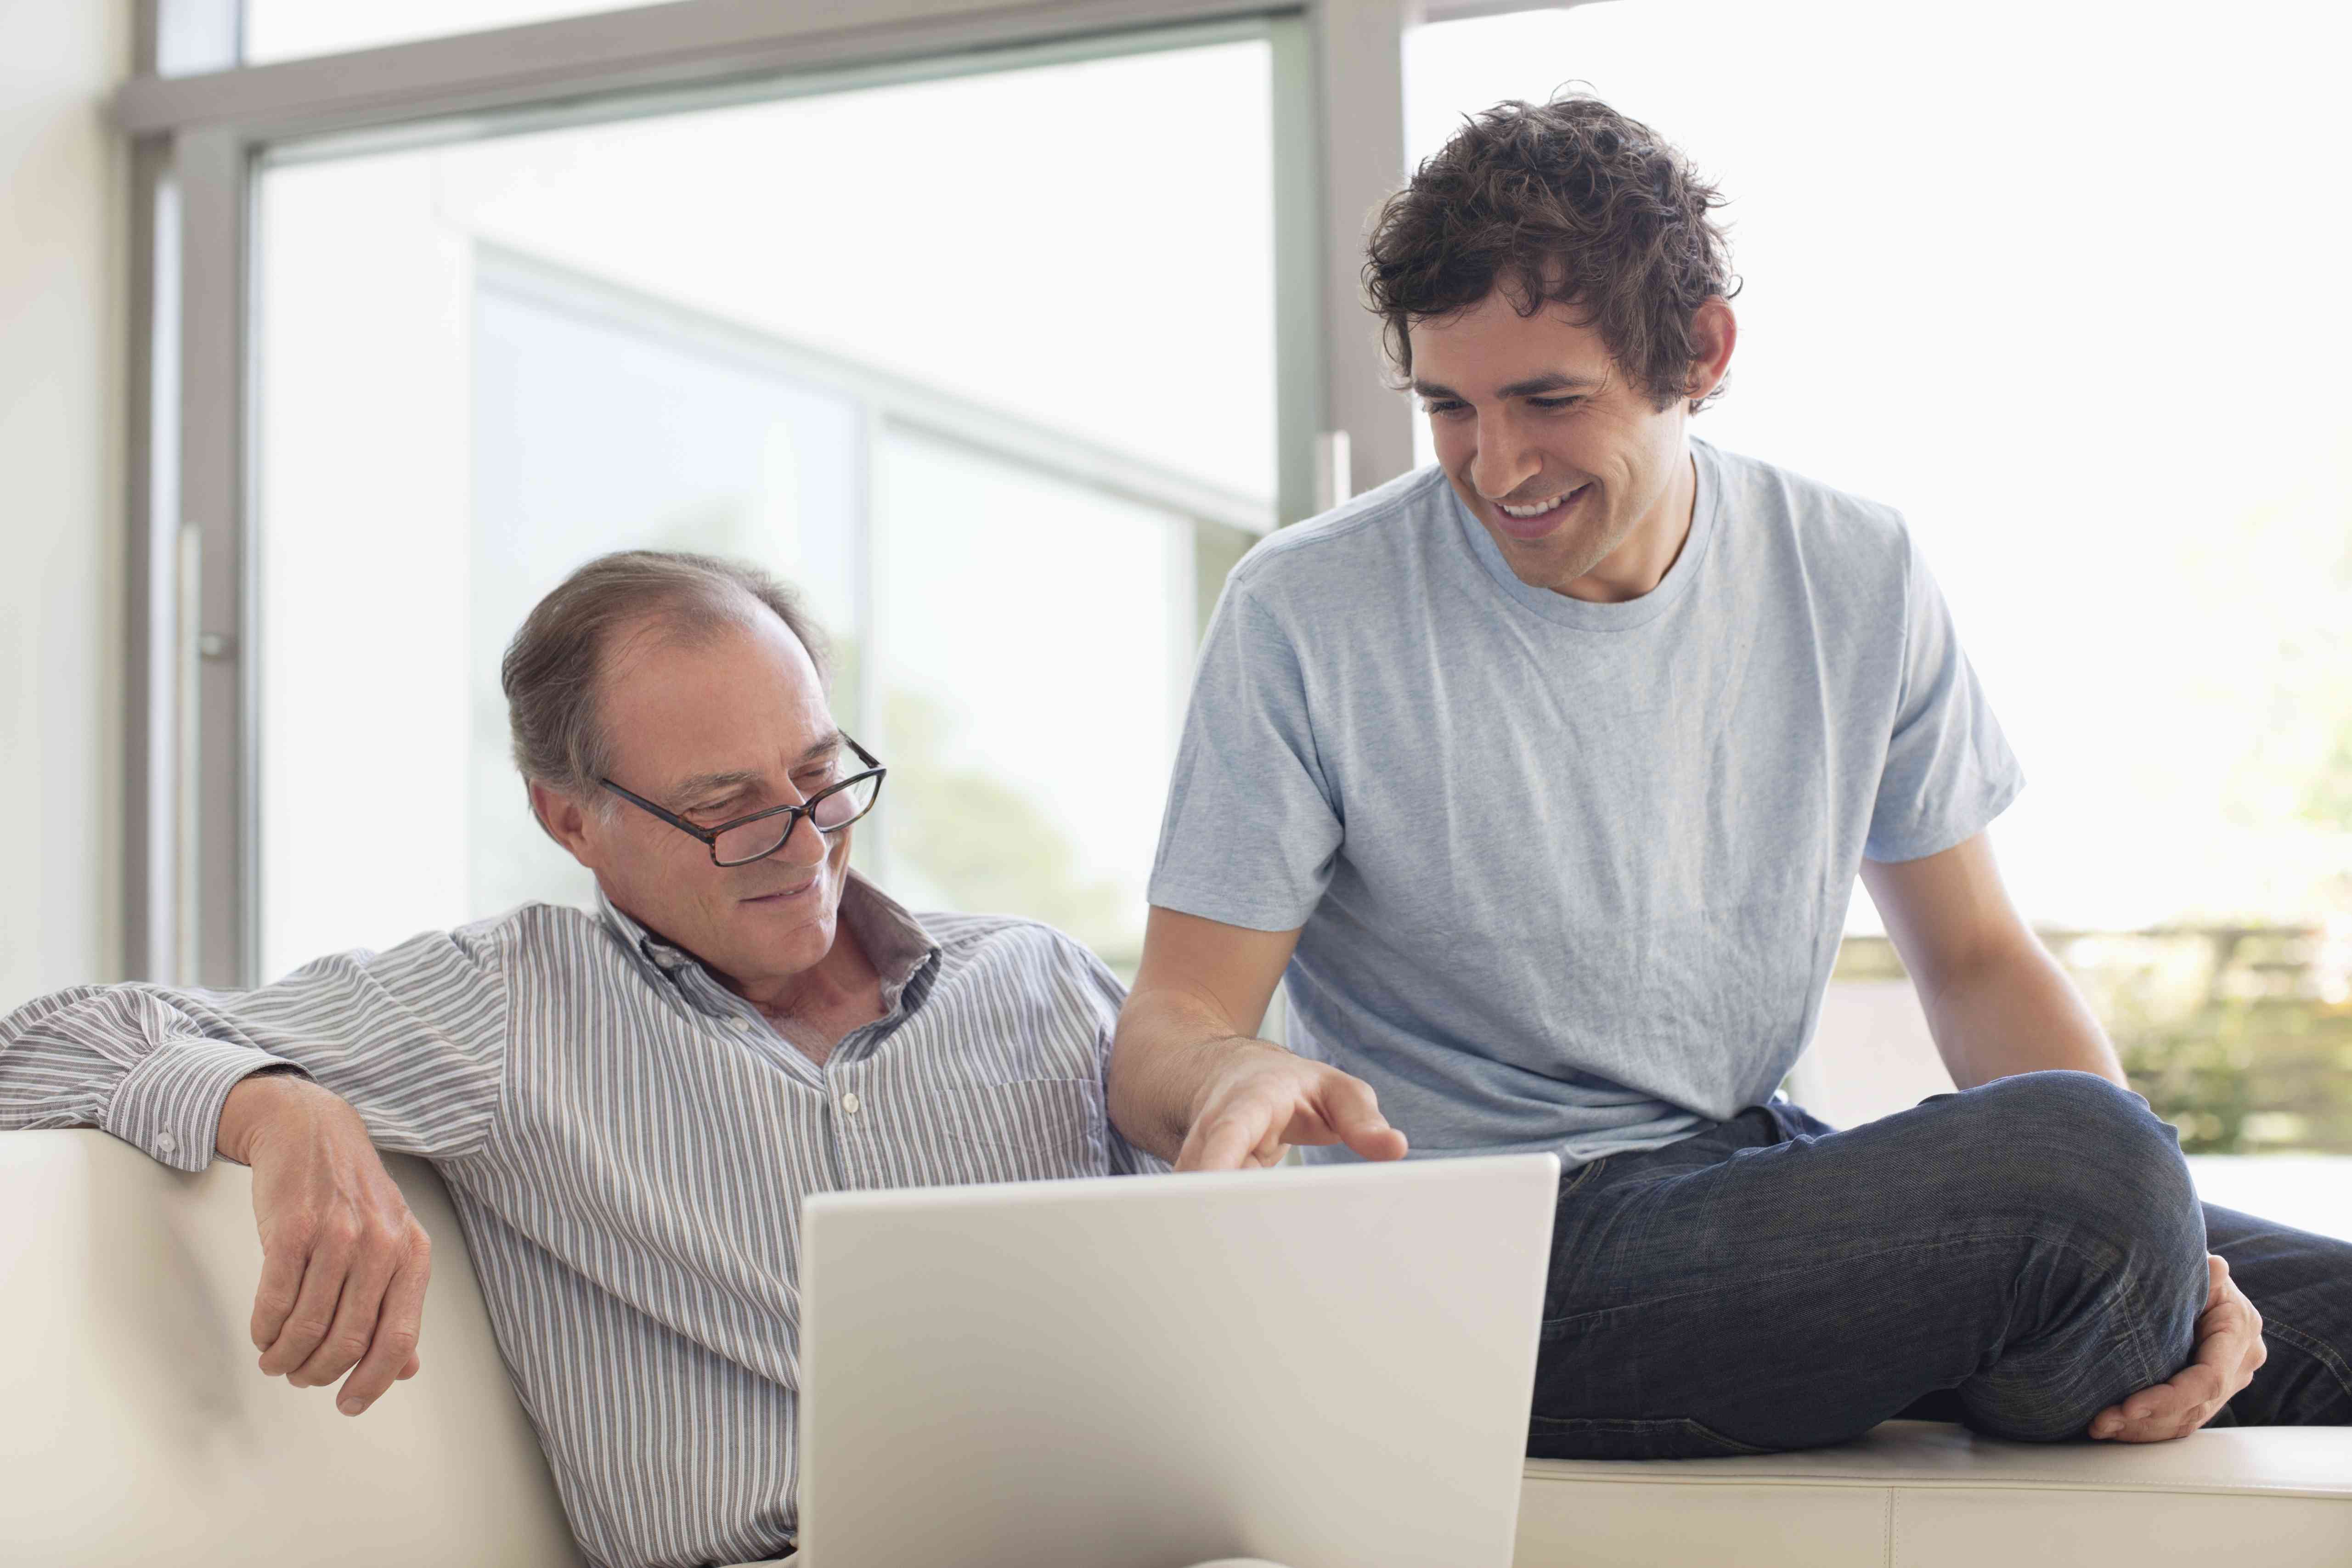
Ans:
[[[809,1199],[811,1568],[1508,1568],[1552,1154]]]

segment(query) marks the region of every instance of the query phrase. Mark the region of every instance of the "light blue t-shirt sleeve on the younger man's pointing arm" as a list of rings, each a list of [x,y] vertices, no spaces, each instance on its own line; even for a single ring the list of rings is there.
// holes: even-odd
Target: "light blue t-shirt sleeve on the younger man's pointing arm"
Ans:
[[[1298,646],[1244,583],[1228,583],[1192,677],[1150,900],[1296,931],[1331,882],[1341,837]]]

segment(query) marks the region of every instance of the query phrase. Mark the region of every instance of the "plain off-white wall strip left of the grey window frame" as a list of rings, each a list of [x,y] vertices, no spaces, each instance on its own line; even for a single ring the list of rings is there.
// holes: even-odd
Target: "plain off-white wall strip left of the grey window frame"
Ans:
[[[0,1011],[122,966],[129,0],[0,0]]]

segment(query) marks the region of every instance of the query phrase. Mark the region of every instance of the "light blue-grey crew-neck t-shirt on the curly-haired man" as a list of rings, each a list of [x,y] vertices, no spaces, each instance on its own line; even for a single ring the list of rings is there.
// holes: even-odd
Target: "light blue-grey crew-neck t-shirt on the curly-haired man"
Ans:
[[[1639,599],[1529,588],[1437,468],[1225,583],[1150,900],[1298,929],[1291,1048],[1416,1154],[1573,1164],[1769,1100],[1860,858],[1950,849],[2023,783],[1903,520],[1691,449]]]

